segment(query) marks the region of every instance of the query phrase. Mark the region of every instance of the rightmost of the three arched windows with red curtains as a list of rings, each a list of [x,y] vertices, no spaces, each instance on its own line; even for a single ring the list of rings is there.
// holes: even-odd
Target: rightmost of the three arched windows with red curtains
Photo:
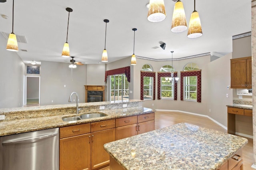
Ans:
[[[180,100],[201,102],[201,70],[196,63],[186,64],[183,70],[180,72]]]

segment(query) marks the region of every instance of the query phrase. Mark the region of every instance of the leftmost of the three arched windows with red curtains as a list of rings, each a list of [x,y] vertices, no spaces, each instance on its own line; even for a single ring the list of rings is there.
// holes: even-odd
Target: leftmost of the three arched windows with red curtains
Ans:
[[[140,71],[140,99],[141,100],[154,100],[155,97],[155,84],[156,73],[149,64],[144,64]]]

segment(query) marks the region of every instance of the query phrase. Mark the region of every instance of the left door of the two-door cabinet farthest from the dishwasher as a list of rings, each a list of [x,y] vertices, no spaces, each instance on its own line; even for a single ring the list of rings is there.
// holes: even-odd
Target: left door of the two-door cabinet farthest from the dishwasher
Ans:
[[[123,127],[116,128],[116,140],[135,136],[136,134],[137,134],[137,124],[126,125]]]

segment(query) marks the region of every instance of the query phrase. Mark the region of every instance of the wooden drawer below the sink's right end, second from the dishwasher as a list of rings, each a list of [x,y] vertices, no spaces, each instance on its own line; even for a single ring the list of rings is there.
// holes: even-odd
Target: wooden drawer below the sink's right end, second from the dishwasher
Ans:
[[[115,127],[115,119],[91,123],[91,131],[96,132]]]

